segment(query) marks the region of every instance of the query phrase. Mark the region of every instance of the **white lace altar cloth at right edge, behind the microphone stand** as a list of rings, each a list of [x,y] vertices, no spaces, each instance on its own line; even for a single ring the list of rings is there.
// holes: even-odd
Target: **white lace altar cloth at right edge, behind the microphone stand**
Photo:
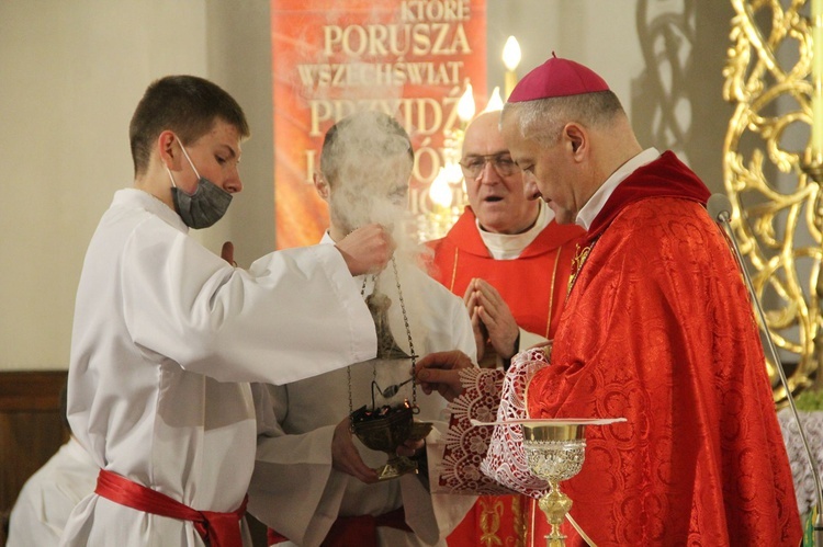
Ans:
[[[820,470],[823,466],[823,412],[800,411],[798,414],[800,414],[800,422],[803,424],[805,440],[809,442],[809,447],[816,460],[818,470]],[[781,409],[777,413],[777,421],[780,422],[786,452],[789,455],[798,510],[801,515],[805,515],[811,511],[812,505],[818,503],[814,495],[814,476],[811,467],[809,467],[803,441],[800,438],[800,431],[791,410],[788,408]]]

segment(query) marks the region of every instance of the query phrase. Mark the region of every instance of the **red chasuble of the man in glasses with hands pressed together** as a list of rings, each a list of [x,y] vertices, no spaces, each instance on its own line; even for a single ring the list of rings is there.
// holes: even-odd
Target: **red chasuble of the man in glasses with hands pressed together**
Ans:
[[[463,297],[469,282],[482,277],[508,304],[517,324],[551,339],[557,328],[580,227],[552,220],[515,260],[488,254],[471,207],[443,239],[431,241],[431,275]],[[523,545],[533,503],[523,495],[482,495],[449,536],[450,547]],[[542,518],[538,510],[537,518]],[[542,545],[543,539],[538,539]]]

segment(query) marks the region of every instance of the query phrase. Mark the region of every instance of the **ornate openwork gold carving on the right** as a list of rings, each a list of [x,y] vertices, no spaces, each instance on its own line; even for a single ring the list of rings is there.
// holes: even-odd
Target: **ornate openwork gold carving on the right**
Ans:
[[[805,3],[732,0],[723,70],[723,96],[734,105],[723,146],[732,227],[792,392],[811,384],[822,342],[823,203],[821,158],[808,149],[812,43],[809,16],[801,13]],[[775,400],[783,401],[775,364],[767,367]]]

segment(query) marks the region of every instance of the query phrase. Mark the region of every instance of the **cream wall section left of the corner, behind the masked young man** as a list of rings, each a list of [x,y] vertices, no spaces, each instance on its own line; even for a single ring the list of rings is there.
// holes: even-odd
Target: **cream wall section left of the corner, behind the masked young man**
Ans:
[[[65,368],[86,244],[147,83],[206,73],[198,0],[0,2],[0,368]]]

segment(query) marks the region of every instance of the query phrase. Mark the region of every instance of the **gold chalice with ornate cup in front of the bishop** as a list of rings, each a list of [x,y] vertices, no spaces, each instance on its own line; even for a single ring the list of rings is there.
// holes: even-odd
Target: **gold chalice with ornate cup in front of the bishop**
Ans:
[[[552,532],[545,536],[546,547],[563,547],[566,536],[560,525],[572,509],[572,500],[560,491],[560,482],[580,471],[586,455],[586,426],[579,423],[522,424],[526,459],[532,474],[549,482],[549,491],[540,499]]]

